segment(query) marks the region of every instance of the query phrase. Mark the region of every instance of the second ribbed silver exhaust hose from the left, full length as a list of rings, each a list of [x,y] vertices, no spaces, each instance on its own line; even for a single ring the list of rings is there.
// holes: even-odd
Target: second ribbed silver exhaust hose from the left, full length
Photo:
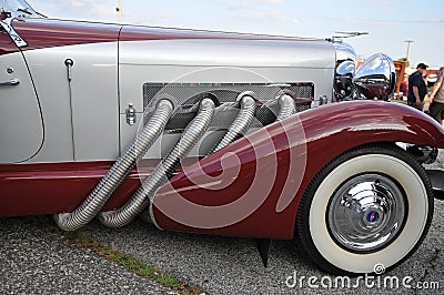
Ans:
[[[117,211],[101,212],[99,220],[110,227],[120,227],[130,223],[150,203],[155,192],[170,176],[180,161],[185,157],[209,128],[214,114],[214,102],[211,99],[203,99],[196,116],[183,131],[181,139],[171,152],[158,164],[154,171],[143,182],[142,186],[132,195],[121,208]]]

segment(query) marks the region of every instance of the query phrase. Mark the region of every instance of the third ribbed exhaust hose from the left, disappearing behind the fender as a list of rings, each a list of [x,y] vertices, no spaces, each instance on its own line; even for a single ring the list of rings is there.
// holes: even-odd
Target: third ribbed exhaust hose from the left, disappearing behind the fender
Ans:
[[[254,119],[254,112],[256,110],[256,102],[255,100],[250,95],[250,94],[243,94],[241,93],[239,96],[239,103],[241,106],[241,110],[239,111],[239,114],[234,122],[230,125],[229,131],[222,138],[222,140],[219,142],[218,145],[215,145],[214,150],[212,152],[216,152],[233,141],[238,140],[239,136],[243,135],[249,131],[253,119]]]

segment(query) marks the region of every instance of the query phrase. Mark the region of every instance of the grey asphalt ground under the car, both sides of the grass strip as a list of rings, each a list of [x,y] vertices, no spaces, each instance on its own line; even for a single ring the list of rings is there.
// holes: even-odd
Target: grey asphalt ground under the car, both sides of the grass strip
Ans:
[[[443,152],[440,159],[442,167]],[[0,294],[174,294],[65,242],[54,226],[48,217],[0,218]],[[205,294],[359,295],[444,294],[443,230],[444,202],[436,200],[431,230],[413,256],[380,278],[350,283],[312,266],[294,241],[273,242],[265,268],[250,238],[164,232],[141,220],[122,228],[93,221],[81,233]]]

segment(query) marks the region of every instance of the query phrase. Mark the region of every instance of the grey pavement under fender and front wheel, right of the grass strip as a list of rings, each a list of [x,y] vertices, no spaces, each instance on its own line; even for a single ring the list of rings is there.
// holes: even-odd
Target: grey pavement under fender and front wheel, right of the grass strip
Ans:
[[[444,288],[444,204],[435,202],[435,217],[423,246],[397,268],[387,273],[400,278],[412,276],[415,282],[440,282]],[[94,223],[87,233],[151,265],[173,274],[183,282],[198,285],[210,294],[367,294],[365,285],[353,289],[290,288],[289,276],[316,276],[320,272],[304,260],[293,241],[276,241],[264,268],[255,242],[246,238],[192,235],[161,232],[141,221],[128,228],[104,228]],[[128,243],[131,241],[131,243]],[[292,281],[291,281],[292,283]],[[386,294],[423,294],[406,288],[382,288]],[[430,291],[428,291],[430,292]],[[425,292],[427,293],[427,292]],[[425,294],[424,293],[424,294]],[[427,293],[430,294],[430,293]]]

